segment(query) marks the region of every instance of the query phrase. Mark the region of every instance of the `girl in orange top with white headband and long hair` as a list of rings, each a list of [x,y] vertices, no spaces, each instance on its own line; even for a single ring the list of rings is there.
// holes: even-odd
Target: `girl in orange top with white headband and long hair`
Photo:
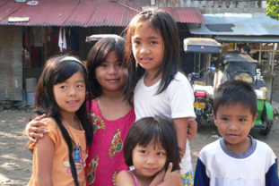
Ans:
[[[35,144],[29,185],[84,186],[86,148],[92,128],[86,114],[87,70],[73,56],[50,58],[36,89],[37,113],[44,113],[48,135]],[[85,135],[84,135],[85,134]]]

